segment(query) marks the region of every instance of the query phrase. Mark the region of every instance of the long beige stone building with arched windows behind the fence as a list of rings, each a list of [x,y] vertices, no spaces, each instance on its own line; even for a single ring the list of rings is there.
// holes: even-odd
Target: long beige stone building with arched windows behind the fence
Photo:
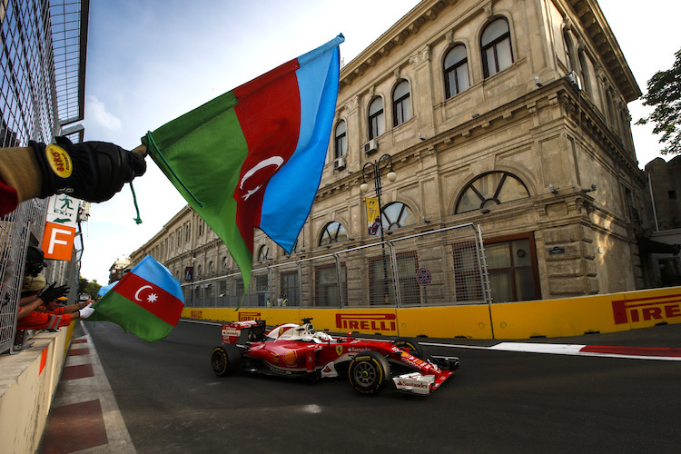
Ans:
[[[383,232],[479,225],[494,301],[641,288],[640,94],[596,0],[424,0],[341,68],[310,217],[291,257],[256,234],[255,265],[375,242],[360,190],[375,163],[397,173]],[[189,207],[132,262],[146,253],[182,281],[238,271]]]

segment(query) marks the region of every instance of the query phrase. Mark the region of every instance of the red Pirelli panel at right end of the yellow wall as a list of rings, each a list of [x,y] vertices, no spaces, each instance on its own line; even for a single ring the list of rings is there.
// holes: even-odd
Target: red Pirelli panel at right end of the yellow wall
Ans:
[[[665,321],[681,317],[681,295],[612,301],[612,312],[616,325],[637,321]]]

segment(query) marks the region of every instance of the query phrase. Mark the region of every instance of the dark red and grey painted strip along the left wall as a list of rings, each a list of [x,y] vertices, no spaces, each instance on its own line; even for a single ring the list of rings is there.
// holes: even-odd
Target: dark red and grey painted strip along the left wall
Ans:
[[[38,454],[134,453],[89,333],[77,321]]]

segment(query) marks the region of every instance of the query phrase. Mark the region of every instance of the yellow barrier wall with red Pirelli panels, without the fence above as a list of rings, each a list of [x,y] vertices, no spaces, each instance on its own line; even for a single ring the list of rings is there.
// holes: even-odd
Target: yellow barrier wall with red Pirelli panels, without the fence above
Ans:
[[[490,319],[491,314],[491,319]],[[387,336],[528,339],[580,336],[681,322],[681,287],[626,291],[562,300],[426,308],[249,308],[183,310],[214,321],[264,320],[270,326],[313,318],[320,330]],[[493,322],[492,322],[493,321]]]

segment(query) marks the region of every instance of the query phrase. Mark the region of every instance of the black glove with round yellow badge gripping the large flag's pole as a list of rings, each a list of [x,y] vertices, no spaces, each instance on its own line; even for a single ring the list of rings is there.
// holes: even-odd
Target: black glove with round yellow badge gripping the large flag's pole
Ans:
[[[65,193],[88,202],[104,202],[146,171],[144,158],[114,143],[71,143],[57,137],[57,144],[29,142],[43,174],[41,198]]]

